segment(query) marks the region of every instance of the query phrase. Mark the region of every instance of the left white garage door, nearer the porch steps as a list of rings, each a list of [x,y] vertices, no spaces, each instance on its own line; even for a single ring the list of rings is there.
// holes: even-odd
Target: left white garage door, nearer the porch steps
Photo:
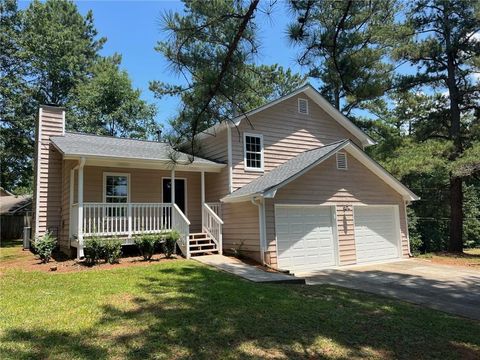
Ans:
[[[307,271],[334,266],[336,251],[328,206],[275,206],[278,266]]]

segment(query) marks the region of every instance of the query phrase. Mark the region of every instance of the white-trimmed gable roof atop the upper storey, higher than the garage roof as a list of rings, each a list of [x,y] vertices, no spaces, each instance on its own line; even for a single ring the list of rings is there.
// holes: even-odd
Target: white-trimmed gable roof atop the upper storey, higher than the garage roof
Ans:
[[[269,103],[262,105],[256,109],[250,110],[246,112],[245,114],[239,115],[236,118],[232,120],[233,124],[235,126],[238,126],[240,122],[243,119],[248,118],[249,116],[252,116],[258,112],[261,112],[263,110],[266,110],[278,103],[281,103],[285,100],[288,100],[294,96],[297,96],[301,93],[305,93],[310,97],[320,108],[322,108],[327,114],[329,114],[335,121],[337,121],[341,126],[343,126],[345,129],[347,129],[349,132],[351,132],[353,135],[355,135],[361,142],[363,146],[370,146],[370,145],[375,145],[376,142],[368,136],[366,133],[364,133],[358,126],[356,126],[352,121],[350,121],[345,115],[343,115],[340,111],[338,111],[335,107],[333,107],[319,92],[317,89],[315,89],[311,84],[307,83],[303,85],[302,87],[298,88],[297,90],[292,91],[291,93],[282,96],[276,100],[270,101]],[[202,134],[200,134],[200,138],[203,136],[208,136],[210,134],[215,134],[217,131],[219,131],[224,124],[220,123],[217,125],[214,125],[207,130],[203,131]]]

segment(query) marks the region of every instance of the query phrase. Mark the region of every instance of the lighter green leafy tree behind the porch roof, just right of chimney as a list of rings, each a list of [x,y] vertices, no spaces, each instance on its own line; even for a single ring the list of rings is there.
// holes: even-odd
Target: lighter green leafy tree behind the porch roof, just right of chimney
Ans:
[[[120,62],[120,55],[97,60],[88,79],[75,87],[67,106],[69,129],[131,138],[155,133],[155,107],[140,98]]]

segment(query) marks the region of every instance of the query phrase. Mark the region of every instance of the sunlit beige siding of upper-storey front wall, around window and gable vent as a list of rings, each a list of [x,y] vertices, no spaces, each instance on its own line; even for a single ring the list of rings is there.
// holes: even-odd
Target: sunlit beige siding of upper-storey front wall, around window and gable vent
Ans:
[[[232,130],[233,190],[261,176],[263,172],[245,171],[243,134],[263,135],[264,170],[268,172],[299,153],[341,139],[361,142],[330,115],[309,99],[309,114],[298,113],[298,98],[292,97],[242,120],[238,131]],[[225,144],[226,147],[226,144]]]

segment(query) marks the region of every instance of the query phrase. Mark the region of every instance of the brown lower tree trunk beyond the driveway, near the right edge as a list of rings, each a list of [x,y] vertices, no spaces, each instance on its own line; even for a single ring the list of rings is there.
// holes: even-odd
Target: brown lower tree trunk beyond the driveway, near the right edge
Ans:
[[[463,251],[463,189],[462,179],[450,178],[450,241],[448,251]]]

